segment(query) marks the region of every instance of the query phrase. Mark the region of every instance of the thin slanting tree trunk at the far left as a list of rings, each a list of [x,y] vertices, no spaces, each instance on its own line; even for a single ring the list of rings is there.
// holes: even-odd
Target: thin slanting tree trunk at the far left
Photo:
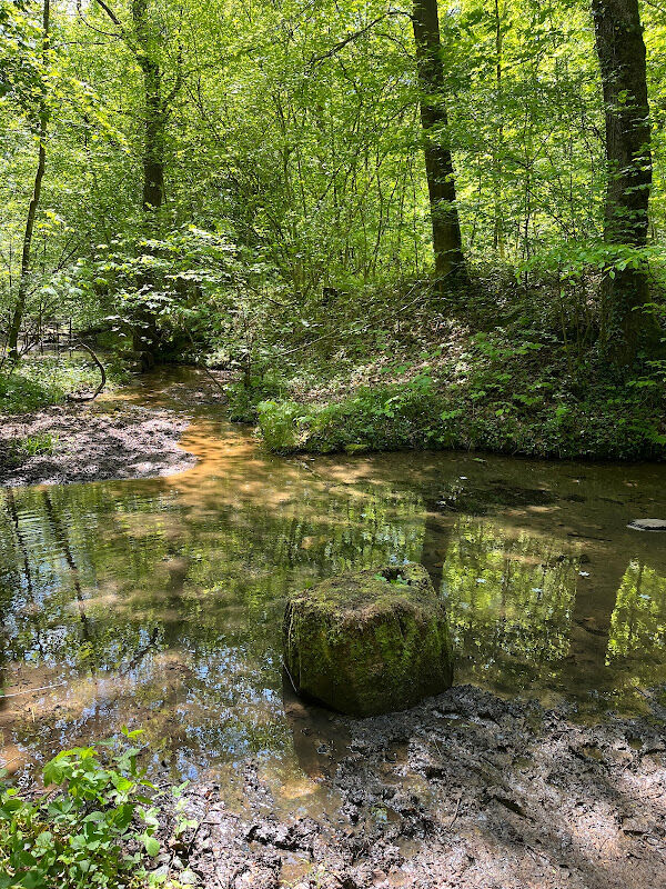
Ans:
[[[39,201],[41,197],[42,179],[44,170],[47,169],[47,128],[49,126],[49,108],[47,103],[47,86],[43,79],[46,68],[48,64],[49,54],[49,27],[51,4],[50,0],[43,0],[43,16],[42,16],[42,83],[39,99],[39,122],[38,122],[38,161],[37,170],[34,173],[34,184],[32,188],[32,197],[28,206],[28,217],[26,219],[26,231],[23,233],[23,250],[21,254],[21,277],[19,279],[19,292],[17,294],[17,304],[13,310],[11,323],[9,326],[9,334],[7,346],[9,349],[9,358],[11,361],[19,360],[19,333],[23,314],[26,313],[26,302],[28,299],[28,282],[30,278],[31,253],[32,253],[32,234],[34,231],[34,219],[39,210]]]

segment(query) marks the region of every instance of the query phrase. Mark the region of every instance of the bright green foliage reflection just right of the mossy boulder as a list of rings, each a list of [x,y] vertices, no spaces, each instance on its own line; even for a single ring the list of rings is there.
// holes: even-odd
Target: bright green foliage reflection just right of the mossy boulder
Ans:
[[[569,647],[577,565],[556,541],[463,518],[443,568],[454,642],[472,675],[511,686],[552,670]]]

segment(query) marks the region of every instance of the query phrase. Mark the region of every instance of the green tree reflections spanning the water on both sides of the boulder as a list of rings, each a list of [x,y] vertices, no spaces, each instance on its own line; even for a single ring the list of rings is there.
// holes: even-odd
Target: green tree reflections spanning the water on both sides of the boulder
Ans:
[[[389,483],[332,483],[276,462],[261,463],[255,479],[254,463],[234,467],[231,480],[198,478],[200,500],[196,486],[183,493],[163,480],[3,496],[9,681],[68,682],[34,722],[28,711],[16,722],[24,742],[99,737],[133,715],[155,755],[180,750],[181,771],[188,757],[203,763],[287,749],[285,597],[390,559],[423,561],[443,589],[458,678],[509,690],[535,679],[573,689],[583,678],[589,689],[599,669],[615,681],[627,658],[660,657],[664,581],[647,569],[640,583],[638,569],[625,573],[626,549],[593,553],[593,583],[562,555],[563,540],[512,528],[506,517],[442,515],[431,495],[424,506],[417,485],[394,492]],[[604,667],[612,612],[613,670]]]

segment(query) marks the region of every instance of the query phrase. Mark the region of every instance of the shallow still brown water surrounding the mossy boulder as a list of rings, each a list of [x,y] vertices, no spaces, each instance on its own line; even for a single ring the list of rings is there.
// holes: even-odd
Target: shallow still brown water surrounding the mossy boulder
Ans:
[[[129,397],[178,407],[174,380]],[[389,560],[430,569],[456,682],[596,718],[666,681],[666,535],[626,527],[666,517],[666,467],[284,459],[220,410],[193,413],[184,473],[0,490],[0,765],[128,723],[174,776],[254,757],[287,797],[309,792],[303,738],[329,717],[283,687],[285,598]]]

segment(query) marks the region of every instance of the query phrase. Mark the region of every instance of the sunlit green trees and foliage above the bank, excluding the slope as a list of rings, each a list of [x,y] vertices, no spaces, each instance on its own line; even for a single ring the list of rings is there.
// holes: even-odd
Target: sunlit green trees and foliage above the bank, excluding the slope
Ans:
[[[2,0],[9,339],[112,319],[182,351],[490,276],[630,363],[659,341],[665,28],[637,0]]]

